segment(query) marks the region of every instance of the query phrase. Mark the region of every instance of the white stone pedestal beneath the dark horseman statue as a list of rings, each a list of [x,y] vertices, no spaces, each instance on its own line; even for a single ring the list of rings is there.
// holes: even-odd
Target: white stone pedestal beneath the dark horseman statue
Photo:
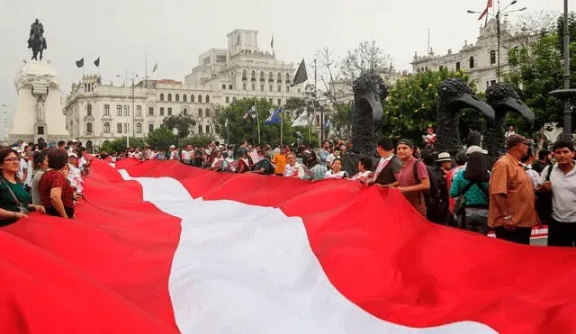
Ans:
[[[62,113],[56,69],[49,61],[30,60],[14,78],[18,102],[9,140],[36,142],[67,140],[66,117]]]

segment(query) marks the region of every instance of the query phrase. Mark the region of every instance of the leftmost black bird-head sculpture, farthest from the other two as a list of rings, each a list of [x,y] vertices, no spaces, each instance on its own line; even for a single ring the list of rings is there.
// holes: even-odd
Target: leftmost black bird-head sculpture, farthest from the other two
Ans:
[[[388,87],[376,72],[366,72],[356,78],[352,89],[352,149],[342,157],[343,169],[351,176],[358,172],[359,157],[375,157],[376,133],[383,118],[382,103],[388,95]]]

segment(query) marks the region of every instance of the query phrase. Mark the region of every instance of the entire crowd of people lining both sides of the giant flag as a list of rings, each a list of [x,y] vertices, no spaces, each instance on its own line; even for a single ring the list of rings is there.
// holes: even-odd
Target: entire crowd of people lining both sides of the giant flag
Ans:
[[[471,129],[471,144],[478,142]],[[342,158],[352,148],[344,141],[325,140],[320,149],[300,145],[238,146],[212,141],[206,146],[170,146],[166,151],[129,148],[121,153],[100,152],[97,158],[177,160],[220,173],[255,173],[310,180],[343,179],[365,186],[396,188],[428,221],[529,244],[536,224],[548,225],[548,245],[576,246],[576,169],[570,140],[539,150],[531,140],[509,129],[500,157],[488,157],[479,145],[455,156],[435,152],[435,134],[428,129],[424,149],[411,140],[377,140],[376,157],[359,157],[354,173]],[[472,140],[470,140],[472,139]],[[91,160],[80,142],[17,143],[0,150],[0,217],[15,221],[30,210],[64,218],[74,217],[82,197],[83,176]]]

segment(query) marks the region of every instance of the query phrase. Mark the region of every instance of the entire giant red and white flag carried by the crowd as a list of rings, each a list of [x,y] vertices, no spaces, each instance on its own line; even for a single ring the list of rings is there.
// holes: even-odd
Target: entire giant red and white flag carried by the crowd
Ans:
[[[0,228],[0,333],[571,333],[576,253],[391,190],[95,162],[76,220]]]

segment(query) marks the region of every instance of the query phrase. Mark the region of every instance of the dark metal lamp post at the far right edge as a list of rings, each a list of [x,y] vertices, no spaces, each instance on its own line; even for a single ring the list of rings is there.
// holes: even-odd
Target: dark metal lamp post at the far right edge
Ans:
[[[564,0],[564,14],[563,14],[563,62],[564,62],[564,87],[550,92],[554,95],[564,99],[564,126],[562,139],[573,140],[572,138],[572,106],[571,99],[576,96],[576,89],[570,89],[570,32],[568,31],[568,0]]]

